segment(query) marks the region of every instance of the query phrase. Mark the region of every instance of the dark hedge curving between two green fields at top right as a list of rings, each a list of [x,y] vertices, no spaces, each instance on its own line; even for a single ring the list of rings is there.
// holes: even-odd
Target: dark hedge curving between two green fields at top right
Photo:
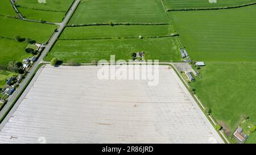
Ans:
[[[224,7],[199,7],[199,8],[191,8],[191,9],[167,9],[167,11],[196,11],[196,10],[222,10],[222,9],[235,9],[235,8],[240,8],[240,7],[246,7],[246,6],[251,6],[251,5],[256,5],[256,2],[252,3],[246,3],[243,5],[237,5],[237,6],[224,6]]]

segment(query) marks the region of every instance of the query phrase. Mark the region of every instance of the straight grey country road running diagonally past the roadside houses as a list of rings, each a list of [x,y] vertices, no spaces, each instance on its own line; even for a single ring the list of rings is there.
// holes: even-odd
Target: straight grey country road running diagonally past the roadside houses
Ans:
[[[18,97],[18,95],[20,93],[22,93],[23,88],[26,86],[27,82],[30,80],[30,78],[33,76],[34,72],[36,71],[36,69],[38,68],[40,62],[43,60],[44,56],[47,55],[47,53],[49,52],[49,50],[52,48],[53,44],[55,43],[56,39],[60,36],[60,33],[63,31],[65,25],[68,23],[68,20],[71,18],[73,12],[76,10],[77,6],[79,5],[80,0],[76,0],[73,5],[71,6],[71,8],[69,9],[67,15],[65,16],[64,20],[62,23],[59,24],[59,28],[57,29],[56,32],[54,32],[54,34],[52,35],[51,39],[49,40],[48,44],[46,45],[46,48],[43,50],[42,54],[40,55],[40,57],[38,58],[38,60],[34,63],[34,65],[32,66],[32,68],[30,69],[29,73],[27,74],[26,78],[23,79],[23,82],[20,83],[18,89],[14,92],[13,95],[11,95],[8,98],[8,102],[5,104],[5,106],[3,107],[3,109],[0,111],[0,119],[3,118],[3,116],[5,116],[6,112],[9,112],[10,107],[12,106],[14,100]],[[20,99],[23,99],[24,96],[27,94],[26,91],[23,92],[23,94],[21,95],[21,97],[19,98],[19,100],[16,102],[19,104],[19,102],[21,102]],[[14,112],[16,105],[13,107],[13,109],[11,110],[11,112]],[[12,115],[11,112],[8,115]],[[7,122],[8,117],[6,116],[6,118],[2,121],[2,123],[0,124],[0,131],[3,127],[3,125]]]

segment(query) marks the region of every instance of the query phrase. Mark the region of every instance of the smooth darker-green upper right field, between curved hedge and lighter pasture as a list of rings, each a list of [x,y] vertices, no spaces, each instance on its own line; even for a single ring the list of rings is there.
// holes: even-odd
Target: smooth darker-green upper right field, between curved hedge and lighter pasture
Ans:
[[[174,11],[169,15],[197,61],[255,61],[256,5],[228,10]]]

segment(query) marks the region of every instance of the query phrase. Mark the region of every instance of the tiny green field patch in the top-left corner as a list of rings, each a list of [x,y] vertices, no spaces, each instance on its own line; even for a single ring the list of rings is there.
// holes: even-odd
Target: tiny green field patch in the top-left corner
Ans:
[[[9,0],[0,0],[0,15],[16,16]]]

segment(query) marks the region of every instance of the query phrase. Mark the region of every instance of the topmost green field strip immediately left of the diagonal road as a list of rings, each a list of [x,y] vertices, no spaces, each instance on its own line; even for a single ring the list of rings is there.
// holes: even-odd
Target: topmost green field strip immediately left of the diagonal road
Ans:
[[[69,6],[74,0],[46,0],[46,3],[39,3],[31,0],[19,0],[16,2],[20,7],[26,7],[29,9],[39,10],[51,10],[51,11],[68,11]]]

